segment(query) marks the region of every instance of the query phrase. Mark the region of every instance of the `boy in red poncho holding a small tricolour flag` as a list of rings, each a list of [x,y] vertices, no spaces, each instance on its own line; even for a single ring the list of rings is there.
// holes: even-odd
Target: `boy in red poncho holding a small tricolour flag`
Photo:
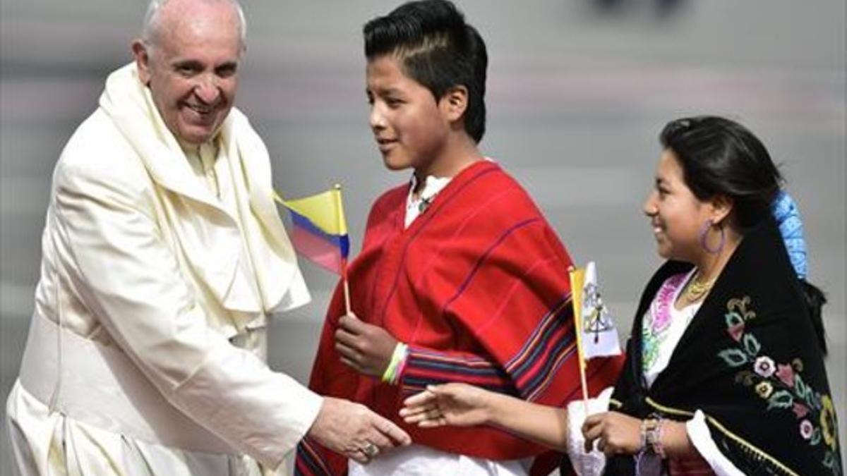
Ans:
[[[579,368],[562,243],[532,199],[484,158],[487,53],[452,3],[405,3],[364,27],[369,124],[386,167],[411,182],[371,208],[363,249],[329,305],[310,387],[363,403],[412,435],[367,465],[311,440],[298,474],[514,474],[555,466],[545,450],[501,429],[419,429],[397,412],[426,385],[466,382],[547,405],[579,397]],[[619,359],[588,369],[592,392]],[[549,471],[548,471],[549,472]]]

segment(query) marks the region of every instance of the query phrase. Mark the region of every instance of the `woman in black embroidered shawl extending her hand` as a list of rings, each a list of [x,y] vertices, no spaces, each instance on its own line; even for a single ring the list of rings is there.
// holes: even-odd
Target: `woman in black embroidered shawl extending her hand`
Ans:
[[[842,474],[825,300],[778,169],[728,119],[675,120],[661,141],[644,211],[668,261],[641,296],[611,411],[582,425],[585,449],[606,454],[608,476]],[[498,424],[567,448],[560,409],[454,384],[410,403],[411,422]]]

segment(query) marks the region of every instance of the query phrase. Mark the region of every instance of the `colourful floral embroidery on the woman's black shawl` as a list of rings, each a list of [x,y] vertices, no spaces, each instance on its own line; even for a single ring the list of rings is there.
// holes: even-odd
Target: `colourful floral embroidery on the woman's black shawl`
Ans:
[[[756,335],[746,331],[746,323],[756,318],[750,308],[750,296],[730,299],[724,315],[728,335],[738,346],[717,352],[723,363],[737,368],[735,381],[752,387],[767,401],[767,410],[791,410],[798,420],[798,432],[810,446],[823,444],[823,466],[840,475],[838,424],[832,398],[806,385],[802,377],[803,361],[799,358],[786,363],[776,363],[772,357],[761,354],[761,343]]]

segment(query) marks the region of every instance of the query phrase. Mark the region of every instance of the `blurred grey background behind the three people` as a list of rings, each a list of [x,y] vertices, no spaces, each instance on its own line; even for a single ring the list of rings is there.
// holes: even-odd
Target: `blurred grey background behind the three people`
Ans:
[[[144,0],[0,0],[0,396],[18,371],[58,154],[130,61]],[[367,126],[360,30],[398,3],[244,2],[238,105],[284,196],[346,188],[353,249],[389,173]],[[847,441],[843,0],[459,0],[490,55],[484,152],[539,202],[580,263],[598,262],[626,333],[660,263],[640,212],[667,120],[737,119],[782,164],[800,203],[811,280],[828,291],[829,377]],[[210,257],[213,259],[213,257]],[[304,263],[314,301],[273,324],[274,368],[307,379],[334,277]],[[0,473],[13,474],[3,431]]]

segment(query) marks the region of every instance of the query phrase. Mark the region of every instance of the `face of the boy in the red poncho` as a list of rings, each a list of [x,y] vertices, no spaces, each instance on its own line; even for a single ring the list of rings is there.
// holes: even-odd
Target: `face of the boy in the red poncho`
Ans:
[[[368,123],[392,170],[428,171],[444,152],[450,121],[432,92],[403,73],[392,55],[368,61]]]

